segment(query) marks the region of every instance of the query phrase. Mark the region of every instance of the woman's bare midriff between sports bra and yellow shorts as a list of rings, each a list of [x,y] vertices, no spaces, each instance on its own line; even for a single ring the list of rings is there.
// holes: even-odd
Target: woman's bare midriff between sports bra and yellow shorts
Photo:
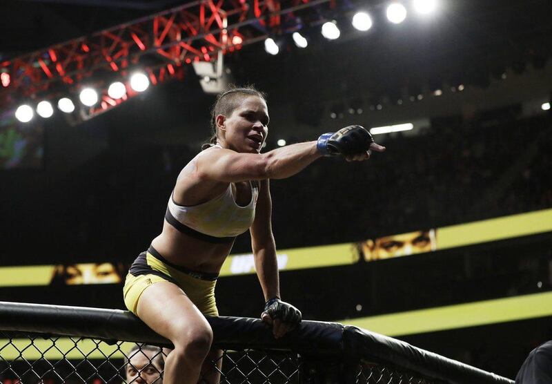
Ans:
[[[212,244],[197,240],[164,222],[163,232],[153,239],[151,244],[172,264],[193,271],[218,273],[232,249],[233,242]]]

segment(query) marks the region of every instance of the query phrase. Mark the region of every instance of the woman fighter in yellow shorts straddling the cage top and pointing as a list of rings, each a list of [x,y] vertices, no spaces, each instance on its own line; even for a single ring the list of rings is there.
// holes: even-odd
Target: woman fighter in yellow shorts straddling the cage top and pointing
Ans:
[[[363,161],[368,151],[385,150],[362,126],[347,126],[262,153],[269,120],[266,96],[253,87],[217,97],[208,144],[180,171],[161,233],[126,276],[126,307],[174,345],[166,384],[219,382],[222,352],[211,349],[206,317],[219,315],[217,278],[235,238],[246,231],[265,300],[261,320],[275,338],[299,327],[301,312],[280,295],[270,179],[291,177],[324,156]]]

